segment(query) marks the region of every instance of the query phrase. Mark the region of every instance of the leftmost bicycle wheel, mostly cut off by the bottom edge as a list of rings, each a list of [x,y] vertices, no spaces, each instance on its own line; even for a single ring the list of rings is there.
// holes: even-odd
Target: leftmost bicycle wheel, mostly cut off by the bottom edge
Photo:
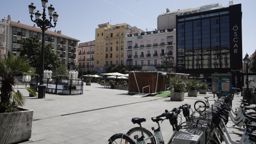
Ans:
[[[114,134],[108,141],[108,144],[135,144],[135,142],[124,133]]]

